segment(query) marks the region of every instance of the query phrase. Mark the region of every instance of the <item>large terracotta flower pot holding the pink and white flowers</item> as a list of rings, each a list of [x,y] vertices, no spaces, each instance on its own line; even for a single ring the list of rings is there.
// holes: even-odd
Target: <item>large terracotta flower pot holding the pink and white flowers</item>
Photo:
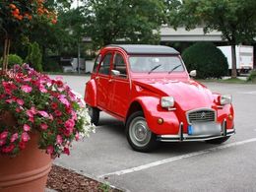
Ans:
[[[38,136],[31,135],[26,149],[17,157],[0,155],[1,192],[43,192],[51,168],[50,156],[37,147]]]

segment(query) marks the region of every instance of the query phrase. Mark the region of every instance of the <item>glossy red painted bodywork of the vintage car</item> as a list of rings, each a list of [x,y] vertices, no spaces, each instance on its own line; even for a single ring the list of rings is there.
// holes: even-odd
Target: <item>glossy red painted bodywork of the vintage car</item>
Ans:
[[[182,122],[183,132],[188,133],[187,112],[195,109],[212,109],[216,113],[216,123],[225,128],[233,129],[234,110],[231,104],[220,104],[219,94],[213,94],[205,86],[190,79],[185,66],[183,71],[172,73],[135,73],[129,65],[128,54],[123,48],[109,46],[101,49],[103,58],[106,53],[113,52],[122,55],[127,71],[127,77],[116,77],[112,74],[98,73],[98,64],[91,80],[86,85],[85,101],[114,117],[126,122],[128,116],[142,109],[147,124],[156,135],[178,135]],[[176,55],[180,58],[179,55]],[[113,69],[113,56],[110,62]],[[174,108],[167,110],[161,107],[161,96],[173,96]],[[163,119],[163,123],[158,122]]]

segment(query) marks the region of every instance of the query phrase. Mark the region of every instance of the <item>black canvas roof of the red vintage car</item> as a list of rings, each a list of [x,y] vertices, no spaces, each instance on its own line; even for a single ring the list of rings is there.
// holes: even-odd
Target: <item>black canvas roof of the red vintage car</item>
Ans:
[[[109,46],[121,47],[128,54],[179,54],[174,48],[163,45],[114,44]]]

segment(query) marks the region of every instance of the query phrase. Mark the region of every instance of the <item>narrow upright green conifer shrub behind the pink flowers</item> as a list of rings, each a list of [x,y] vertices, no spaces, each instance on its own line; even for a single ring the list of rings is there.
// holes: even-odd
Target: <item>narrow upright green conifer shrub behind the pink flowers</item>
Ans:
[[[42,55],[38,43],[30,43],[26,62],[36,71],[42,71],[41,58]]]

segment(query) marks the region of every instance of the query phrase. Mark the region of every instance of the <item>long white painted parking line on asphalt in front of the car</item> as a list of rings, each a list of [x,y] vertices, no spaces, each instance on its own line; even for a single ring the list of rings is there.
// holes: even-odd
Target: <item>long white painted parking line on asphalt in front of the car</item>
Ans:
[[[164,163],[173,162],[173,161],[177,161],[177,160],[188,159],[188,158],[192,158],[192,157],[196,157],[196,156],[200,156],[200,155],[204,155],[204,154],[209,154],[211,152],[216,152],[218,150],[223,150],[223,149],[231,148],[231,147],[234,147],[234,146],[240,146],[240,145],[244,145],[244,144],[251,143],[251,142],[256,142],[256,138],[244,140],[244,141],[241,141],[241,142],[226,144],[226,145],[219,146],[219,147],[216,147],[216,148],[211,148],[211,149],[208,149],[208,150],[203,150],[203,151],[194,152],[194,153],[190,153],[190,154],[186,154],[186,155],[182,155],[182,156],[177,156],[177,157],[173,157],[173,158],[170,158],[170,159],[158,160],[158,161],[151,162],[151,163],[148,163],[148,164],[143,164],[143,165],[135,166],[135,167],[132,167],[132,168],[127,168],[127,169],[123,169],[123,170],[118,170],[118,171],[102,174],[102,175],[99,175],[97,177],[98,178],[103,178],[103,177],[109,176],[109,175],[127,174],[127,173],[131,173],[131,172],[151,168],[151,167],[154,167],[154,166],[158,166],[158,165],[161,165],[161,164],[164,164]]]

